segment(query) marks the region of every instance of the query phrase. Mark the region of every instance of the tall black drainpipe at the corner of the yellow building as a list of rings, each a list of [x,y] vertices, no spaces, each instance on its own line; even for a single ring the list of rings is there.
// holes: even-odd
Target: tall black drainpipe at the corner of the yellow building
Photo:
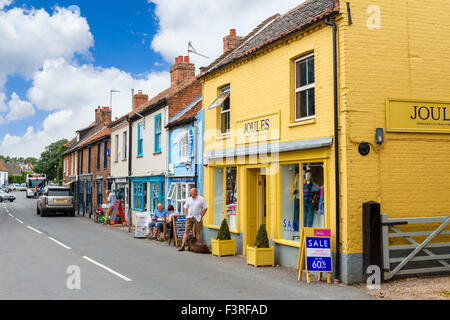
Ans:
[[[338,101],[338,61],[337,61],[337,27],[336,23],[325,19],[325,24],[333,28],[333,85],[334,85],[334,159],[336,181],[336,268],[335,277],[341,278],[341,248],[340,248],[340,175],[339,175],[339,101]]]

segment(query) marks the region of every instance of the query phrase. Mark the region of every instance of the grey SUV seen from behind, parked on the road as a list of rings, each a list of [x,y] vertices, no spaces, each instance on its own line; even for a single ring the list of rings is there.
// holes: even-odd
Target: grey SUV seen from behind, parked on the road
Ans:
[[[56,213],[75,216],[75,199],[70,188],[47,186],[38,198],[36,211],[41,217]]]

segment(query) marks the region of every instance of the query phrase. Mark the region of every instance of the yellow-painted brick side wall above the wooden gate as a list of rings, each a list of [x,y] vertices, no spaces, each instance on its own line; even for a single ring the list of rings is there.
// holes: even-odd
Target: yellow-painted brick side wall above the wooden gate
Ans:
[[[365,201],[381,202],[393,218],[449,215],[450,135],[387,133],[386,98],[450,102],[450,2],[350,3],[353,25],[346,13],[339,21],[342,249],[360,253]],[[380,29],[368,27],[371,5],[380,9]],[[381,147],[376,128],[385,129]],[[371,143],[367,157],[361,142]]]

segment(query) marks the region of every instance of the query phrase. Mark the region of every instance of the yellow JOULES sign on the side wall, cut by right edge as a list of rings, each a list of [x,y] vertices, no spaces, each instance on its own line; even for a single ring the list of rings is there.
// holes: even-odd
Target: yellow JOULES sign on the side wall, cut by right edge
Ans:
[[[450,103],[388,99],[386,117],[388,132],[450,133]]]

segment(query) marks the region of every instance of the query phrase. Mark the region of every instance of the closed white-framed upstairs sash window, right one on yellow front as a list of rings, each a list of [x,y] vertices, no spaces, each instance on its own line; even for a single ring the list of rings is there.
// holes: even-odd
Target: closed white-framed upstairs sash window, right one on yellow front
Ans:
[[[315,114],[314,54],[310,54],[295,61],[295,120],[308,120]]]

